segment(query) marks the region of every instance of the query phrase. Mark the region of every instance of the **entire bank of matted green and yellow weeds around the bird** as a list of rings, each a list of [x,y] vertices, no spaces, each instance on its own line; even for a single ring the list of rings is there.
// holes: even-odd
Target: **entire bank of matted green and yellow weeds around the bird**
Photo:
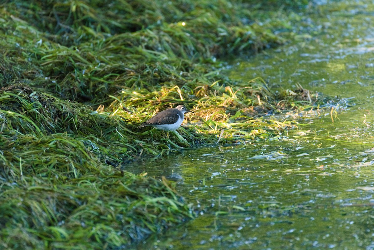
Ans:
[[[288,4],[298,1],[288,1]],[[5,249],[122,249],[193,217],[173,184],[123,162],[274,137],[267,112],[323,104],[234,81],[217,58],[282,44],[287,20],[241,1],[6,1],[0,9],[0,241]],[[261,5],[261,8],[263,6]],[[263,11],[263,10],[261,10]],[[297,18],[294,16],[294,18]],[[139,122],[185,104],[194,126]],[[224,129],[224,130],[223,130]]]

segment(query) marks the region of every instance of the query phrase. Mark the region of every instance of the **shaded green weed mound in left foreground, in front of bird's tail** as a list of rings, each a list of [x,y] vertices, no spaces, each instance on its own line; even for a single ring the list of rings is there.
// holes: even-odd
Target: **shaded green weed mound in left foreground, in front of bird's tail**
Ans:
[[[28,87],[0,96],[2,248],[113,249],[192,217],[172,183],[108,165],[140,150],[120,119]]]

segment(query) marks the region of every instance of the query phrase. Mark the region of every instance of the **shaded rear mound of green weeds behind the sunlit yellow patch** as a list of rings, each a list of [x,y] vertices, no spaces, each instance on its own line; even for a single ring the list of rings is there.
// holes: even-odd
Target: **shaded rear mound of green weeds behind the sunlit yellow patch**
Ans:
[[[122,87],[182,86],[199,81],[202,68],[220,67],[212,57],[284,42],[267,27],[243,24],[249,11],[227,1],[89,2],[6,4],[2,86],[22,82],[61,98],[108,104]]]

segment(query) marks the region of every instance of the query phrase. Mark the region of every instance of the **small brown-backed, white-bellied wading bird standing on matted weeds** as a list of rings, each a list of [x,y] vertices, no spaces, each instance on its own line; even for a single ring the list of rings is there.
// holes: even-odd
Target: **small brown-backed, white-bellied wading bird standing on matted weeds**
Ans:
[[[178,105],[175,108],[162,110],[157,113],[151,119],[143,122],[138,128],[145,126],[154,126],[157,129],[162,129],[165,131],[172,131],[179,128],[184,119],[184,113],[192,112],[188,110],[184,105]]]

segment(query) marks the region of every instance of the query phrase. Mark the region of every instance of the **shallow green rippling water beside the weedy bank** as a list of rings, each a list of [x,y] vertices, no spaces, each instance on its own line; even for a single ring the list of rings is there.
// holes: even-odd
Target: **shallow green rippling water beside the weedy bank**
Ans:
[[[238,60],[231,77],[352,98],[274,140],[185,149],[127,170],[166,176],[199,210],[138,249],[374,249],[374,4],[327,3],[297,42]],[[302,34],[310,34],[306,39]],[[366,116],[366,117],[365,117]],[[196,205],[197,204],[197,205]]]

